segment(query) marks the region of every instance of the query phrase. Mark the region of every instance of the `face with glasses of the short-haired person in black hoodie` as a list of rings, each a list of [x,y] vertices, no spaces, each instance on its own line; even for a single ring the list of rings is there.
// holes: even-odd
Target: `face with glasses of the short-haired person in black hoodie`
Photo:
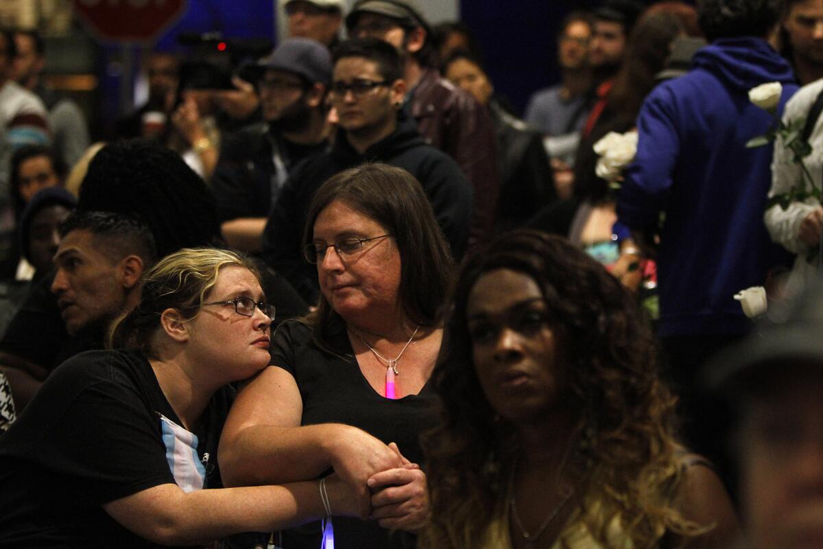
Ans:
[[[342,91],[342,87],[349,87]],[[402,103],[402,80],[386,81],[377,63],[360,57],[342,58],[334,65],[329,95],[339,124],[358,135],[382,135],[396,123],[395,105]]]

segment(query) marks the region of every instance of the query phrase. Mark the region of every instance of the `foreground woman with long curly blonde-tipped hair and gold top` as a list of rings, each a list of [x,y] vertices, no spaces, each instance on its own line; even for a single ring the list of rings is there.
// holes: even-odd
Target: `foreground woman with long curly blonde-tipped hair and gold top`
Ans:
[[[633,297],[567,240],[518,230],[470,258],[432,375],[424,547],[731,547],[655,364]]]

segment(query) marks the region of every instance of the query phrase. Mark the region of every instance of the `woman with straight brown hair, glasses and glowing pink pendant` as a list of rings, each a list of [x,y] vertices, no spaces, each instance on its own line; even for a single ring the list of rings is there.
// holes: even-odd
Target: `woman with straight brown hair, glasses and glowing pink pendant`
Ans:
[[[378,163],[314,193],[303,241],[318,307],[277,328],[270,366],[238,393],[221,439],[223,477],[314,481],[333,469],[370,517],[331,509],[333,528],[292,529],[282,547],[314,549],[321,538],[329,547],[332,534],[337,547],[414,547],[428,500],[412,463],[435,420],[429,376],[454,276],[449,244],[421,184]]]

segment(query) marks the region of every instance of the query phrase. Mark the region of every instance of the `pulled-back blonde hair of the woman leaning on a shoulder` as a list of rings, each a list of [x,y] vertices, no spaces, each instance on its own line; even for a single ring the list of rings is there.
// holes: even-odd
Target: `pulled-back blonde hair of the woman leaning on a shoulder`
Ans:
[[[109,347],[136,347],[156,358],[151,338],[160,328],[160,314],[177,309],[184,319],[195,318],[221,268],[233,265],[249,269],[258,282],[261,280],[251,258],[226,249],[184,248],[160,259],[143,273],[137,306],[120,315],[109,328]]]

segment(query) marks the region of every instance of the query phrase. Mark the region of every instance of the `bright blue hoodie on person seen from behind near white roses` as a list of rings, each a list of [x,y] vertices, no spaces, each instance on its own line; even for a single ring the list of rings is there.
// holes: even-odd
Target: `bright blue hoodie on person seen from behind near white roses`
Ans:
[[[694,68],[649,94],[637,120],[637,156],[617,204],[622,223],[656,226],[659,334],[739,334],[749,328],[737,291],[764,283],[784,260],[763,224],[772,147],[746,149],[774,120],[748,91],[783,84],[779,112],[797,91],[792,69],[764,40],[716,40]]]

